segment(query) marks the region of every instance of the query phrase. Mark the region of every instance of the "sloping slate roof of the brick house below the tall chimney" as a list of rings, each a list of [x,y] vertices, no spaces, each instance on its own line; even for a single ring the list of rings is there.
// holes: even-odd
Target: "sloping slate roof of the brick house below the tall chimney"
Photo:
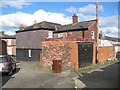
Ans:
[[[68,25],[62,25],[57,27],[57,32],[65,32],[65,31],[74,31],[74,30],[88,30],[88,28],[95,22],[96,20],[89,20],[89,21],[83,21],[78,22],[76,24],[68,24]]]

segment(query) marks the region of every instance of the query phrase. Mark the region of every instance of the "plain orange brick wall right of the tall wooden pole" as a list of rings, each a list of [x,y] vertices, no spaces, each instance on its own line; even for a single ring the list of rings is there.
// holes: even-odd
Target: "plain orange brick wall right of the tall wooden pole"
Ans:
[[[98,62],[106,62],[108,58],[115,57],[115,48],[114,46],[109,47],[99,47],[98,49]]]

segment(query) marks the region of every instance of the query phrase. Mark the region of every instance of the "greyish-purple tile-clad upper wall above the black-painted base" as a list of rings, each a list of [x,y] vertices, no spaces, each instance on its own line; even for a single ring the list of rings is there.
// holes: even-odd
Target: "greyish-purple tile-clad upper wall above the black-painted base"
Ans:
[[[41,49],[42,40],[48,37],[47,30],[17,33],[17,48]]]

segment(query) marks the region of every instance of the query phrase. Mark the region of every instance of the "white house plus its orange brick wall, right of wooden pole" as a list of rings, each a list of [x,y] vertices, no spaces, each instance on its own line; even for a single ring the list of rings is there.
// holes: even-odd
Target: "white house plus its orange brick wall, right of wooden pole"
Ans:
[[[115,59],[119,51],[120,39],[100,34],[99,39],[99,62]]]

